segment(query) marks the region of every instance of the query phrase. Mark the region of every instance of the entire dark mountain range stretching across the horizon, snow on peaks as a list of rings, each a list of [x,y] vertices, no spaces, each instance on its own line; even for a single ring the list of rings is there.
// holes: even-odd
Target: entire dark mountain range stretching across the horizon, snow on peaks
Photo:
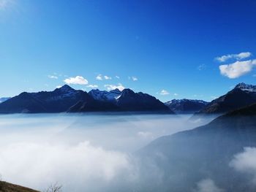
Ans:
[[[19,112],[167,112],[198,115],[224,114],[256,103],[256,85],[239,83],[225,95],[211,102],[195,99],[173,99],[162,103],[146,93],[131,89],[119,91],[75,90],[69,85],[54,91],[20,93],[0,99],[0,113]]]

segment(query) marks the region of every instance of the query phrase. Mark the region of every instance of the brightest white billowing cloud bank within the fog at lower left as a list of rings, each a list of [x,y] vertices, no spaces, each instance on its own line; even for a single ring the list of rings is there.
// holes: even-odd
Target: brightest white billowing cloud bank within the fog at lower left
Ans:
[[[17,142],[0,149],[0,170],[4,179],[33,188],[41,186],[43,189],[42,186],[46,188],[58,182],[64,185],[65,191],[72,191],[70,185],[75,182],[75,188],[80,188],[78,191],[81,188],[92,190],[97,188],[97,182],[102,188],[121,172],[129,177],[131,169],[129,157],[124,153],[94,147],[89,142],[77,145]]]

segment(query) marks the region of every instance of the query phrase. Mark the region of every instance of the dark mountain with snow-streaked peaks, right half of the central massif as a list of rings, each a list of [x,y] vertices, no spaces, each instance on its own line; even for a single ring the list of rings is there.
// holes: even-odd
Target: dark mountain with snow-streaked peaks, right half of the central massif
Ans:
[[[93,93],[92,93],[93,92]],[[96,94],[96,93],[97,94]],[[90,91],[94,96],[94,103],[81,101],[71,107],[69,112],[86,112],[89,106],[95,106],[95,110],[100,111],[129,111],[129,112],[168,112],[173,113],[168,107],[154,96],[146,93],[135,93],[130,89],[123,91]],[[97,95],[97,96],[95,96]],[[97,100],[99,99],[99,100]]]

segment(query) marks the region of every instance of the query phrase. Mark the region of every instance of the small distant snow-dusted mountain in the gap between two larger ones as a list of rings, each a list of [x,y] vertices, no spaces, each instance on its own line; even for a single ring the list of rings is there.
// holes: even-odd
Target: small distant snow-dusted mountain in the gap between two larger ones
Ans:
[[[208,102],[196,99],[173,99],[165,102],[165,105],[176,113],[195,113],[206,107]]]

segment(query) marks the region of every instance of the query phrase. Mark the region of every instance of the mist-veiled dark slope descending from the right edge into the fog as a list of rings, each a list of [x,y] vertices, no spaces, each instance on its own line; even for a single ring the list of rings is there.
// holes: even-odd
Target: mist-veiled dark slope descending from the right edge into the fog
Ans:
[[[244,153],[244,147],[256,150],[256,104],[222,115],[206,126],[151,142],[140,151],[142,170],[146,174],[153,166],[161,173],[159,183],[148,185],[151,191],[193,191],[205,179],[211,179],[223,191],[255,191],[253,167],[245,166],[244,172],[249,169],[245,174],[232,165],[236,154]],[[253,159],[255,156],[245,159],[245,165]]]

